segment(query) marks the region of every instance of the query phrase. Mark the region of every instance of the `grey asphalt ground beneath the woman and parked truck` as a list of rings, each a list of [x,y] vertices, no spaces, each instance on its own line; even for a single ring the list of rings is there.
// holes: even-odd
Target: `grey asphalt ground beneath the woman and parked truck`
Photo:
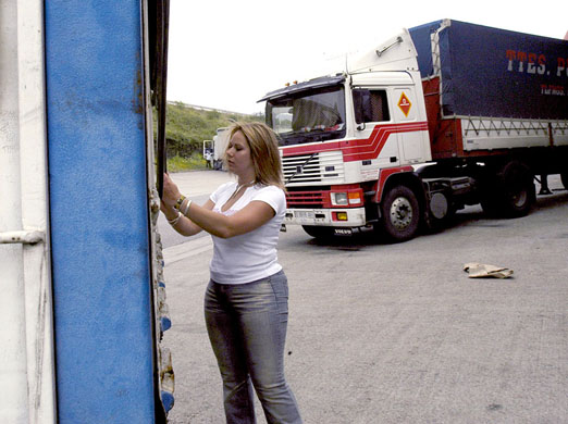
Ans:
[[[288,226],[285,363],[305,422],[568,423],[568,191],[555,177],[550,186],[527,217],[468,208],[449,228],[398,245],[320,242]],[[211,242],[186,240],[164,251],[170,422],[224,423],[202,317]],[[468,278],[467,262],[514,276]]]

